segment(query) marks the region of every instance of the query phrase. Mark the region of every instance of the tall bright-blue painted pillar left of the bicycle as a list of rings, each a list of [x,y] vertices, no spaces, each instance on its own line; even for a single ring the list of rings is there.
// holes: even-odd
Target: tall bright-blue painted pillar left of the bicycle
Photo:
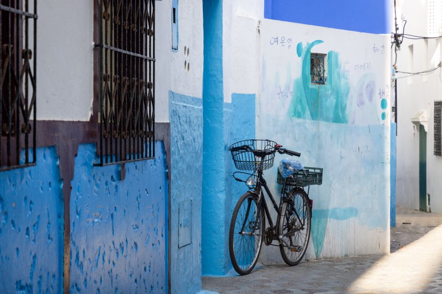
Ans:
[[[226,265],[222,0],[203,0],[202,274],[224,274]]]

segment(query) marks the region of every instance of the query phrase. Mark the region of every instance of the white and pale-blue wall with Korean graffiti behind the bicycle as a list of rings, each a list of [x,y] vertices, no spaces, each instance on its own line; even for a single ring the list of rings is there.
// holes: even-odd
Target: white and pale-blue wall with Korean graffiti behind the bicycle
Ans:
[[[305,6],[301,9],[308,9],[306,7],[311,5],[307,4],[300,5]],[[377,6],[379,6],[378,4],[376,3]],[[387,21],[390,3],[382,1],[381,4],[376,12],[368,13],[366,17],[360,18],[346,17],[347,14],[353,13],[350,9],[344,13],[342,17],[344,20],[341,24],[344,24],[348,30],[388,33],[389,28],[385,28],[385,22]],[[216,211],[223,211],[225,214],[223,220],[219,218],[215,220],[220,226],[224,227],[220,228],[219,231],[224,232],[227,236],[231,209],[241,192],[247,190],[246,187],[242,187],[241,184],[232,181],[230,178],[229,174],[235,169],[227,150],[228,146],[241,139],[268,138],[280,140],[286,146],[291,144],[291,147],[299,148],[300,151],[307,150],[306,154],[303,155],[303,160],[307,160],[311,165],[322,166],[326,171],[331,171],[332,176],[329,185],[332,185],[333,191],[335,191],[331,196],[327,195],[327,192],[331,190],[331,186],[324,188],[323,185],[319,188],[312,188],[312,193],[317,195],[318,202],[321,202],[322,199],[324,201],[322,201],[322,205],[318,206],[315,213],[317,216],[314,223],[314,227],[316,227],[315,244],[310,245],[309,258],[387,252],[390,193],[388,158],[390,153],[388,123],[390,114],[387,102],[389,100],[389,69],[386,66],[386,64],[389,64],[388,36],[327,30],[307,25],[293,26],[293,24],[287,22],[274,22],[278,24],[278,29],[269,29],[271,21],[263,20],[263,18],[270,18],[266,13],[269,7],[284,6],[283,8],[286,11],[298,11],[300,9],[298,2],[249,0],[224,1],[222,5],[222,86],[224,102],[226,103],[223,107],[224,117],[222,121],[225,133],[225,153],[220,158],[225,163],[225,180],[223,180],[225,181],[223,185],[225,191],[224,193],[221,191],[217,195],[218,205],[215,203],[209,205],[210,209],[214,208]],[[330,6],[327,3],[324,5]],[[369,6],[369,10],[373,10],[376,6],[375,3],[371,2],[363,5]],[[315,8],[317,8],[316,4]],[[359,8],[361,7],[358,6]],[[324,10],[330,12],[330,9]],[[281,11],[275,9],[272,18],[281,19],[283,16]],[[324,14],[324,11],[322,13]],[[375,20],[376,23],[362,27],[363,23],[367,23],[367,19]],[[314,18],[310,18],[309,21],[310,24],[318,25],[318,23],[314,23]],[[359,29],[360,27],[362,28]],[[263,29],[267,33],[265,38],[263,38]],[[284,36],[288,38],[289,35],[292,41],[291,50],[287,49],[287,42],[284,45],[279,43],[279,47],[275,46],[280,48],[280,51],[277,51],[275,47],[268,48],[271,37]],[[330,36],[327,38],[328,35],[332,35],[334,39],[340,41],[332,41]],[[313,39],[309,39],[310,37]],[[335,51],[330,54],[330,70],[335,75],[334,78],[330,76],[330,80],[333,81],[334,79],[334,83],[332,82],[331,85],[322,88],[326,91],[324,94],[321,93],[320,96],[328,98],[328,102],[324,102],[322,109],[331,108],[333,110],[335,108],[331,104],[335,103],[334,105],[339,105],[336,111],[341,112],[342,115],[335,116],[333,111],[330,113],[327,113],[327,111],[318,113],[313,111],[310,113],[305,101],[301,103],[303,105],[298,109],[300,104],[298,98],[304,100],[305,98],[293,98],[295,87],[300,90],[304,88],[301,78],[301,73],[304,71],[301,56],[304,58],[307,55],[307,43],[312,43],[317,39],[326,40],[326,42],[332,44],[325,45],[317,42],[316,51],[313,52],[328,53],[329,51]],[[342,40],[346,40],[346,42],[342,42]],[[348,46],[347,40],[353,41],[350,43],[351,46]],[[297,49],[299,42],[303,42],[303,46]],[[344,45],[339,47],[338,42],[346,44],[347,48],[344,48]],[[362,45],[355,45],[357,43]],[[285,47],[282,48],[282,46]],[[283,52],[284,49],[285,52]],[[319,51],[317,51],[318,49]],[[268,50],[274,50],[275,53],[266,55]],[[297,56],[297,51],[300,51],[301,56]],[[341,53],[346,54],[345,60],[340,59]],[[267,63],[261,54],[270,57]],[[276,74],[276,69],[280,73]],[[386,88],[387,85],[388,89]],[[256,113],[255,107],[250,104],[251,100],[247,100],[245,98],[247,96],[243,96],[243,94],[253,94],[253,97],[255,97],[254,93],[257,93],[255,99]],[[317,89],[316,93],[312,89],[310,93],[304,95],[312,96],[314,94],[318,96]],[[349,104],[348,113],[347,104]],[[237,116],[234,112],[238,105],[241,105],[243,113]],[[218,108],[220,108],[219,105]],[[291,116],[288,115],[289,108],[292,110]],[[350,109],[352,110],[350,111]],[[249,118],[251,113],[255,113],[255,120]],[[313,119],[311,118],[312,115]],[[249,125],[254,122],[255,127]],[[298,131],[297,128],[301,130]],[[327,138],[322,138],[325,132],[329,133],[330,129],[335,132],[336,137],[332,139],[327,135],[325,136]],[[287,133],[289,134],[288,137]],[[303,138],[302,141],[305,144],[303,145],[304,149],[301,149],[301,144],[298,142],[298,140],[301,141],[301,138]],[[339,155],[326,154],[326,145],[334,146],[336,150],[340,150],[338,151]],[[362,146],[362,149],[359,148],[358,150],[357,145]],[[360,163],[350,168],[347,165],[341,166],[341,156],[346,158],[345,162],[347,164],[353,164],[355,160],[360,161]],[[324,163],[326,161],[327,163]],[[338,173],[340,172],[341,177],[343,176],[345,180],[334,175],[336,169],[339,170]],[[376,170],[376,172],[373,172],[373,170]],[[271,182],[275,182],[275,171],[272,170],[271,174],[268,174]],[[360,171],[360,177],[352,178],[351,175],[356,171]],[[370,183],[364,186],[363,180],[366,180],[366,178],[370,179]],[[339,191],[343,186],[353,184],[353,182],[356,182],[355,191],[365,195],[365,197],[355,197],[352,189],[347,189],[343,193]],[[368,186],[370,189],[374,189],[373,194],[375,196],[363,193]],[[272,188],[273,191],[276,191],[276,187]],[[320,189],[324,189],[322,194]],[[338,191],[344,196],[339,196]],[[207,208],[204,208],[203,194],[204,209]],[[373,214],[376,214],[377,221],[370,221]],[[202,221],[204,228],[204,216]],[[355,235],[355,229],[360,228],[367,232],[363,237]],[[202,242],[203,274],[225,274],[228,272],[231,266],[228,258],[227,240],[224,238],[218,242],[220,244],[217,243],[217,248],[221,248],[223,252],[218,250],[215,256],[212,252],[205,252],[204,237]],[[221,245],[221,242],[224,243],[224,246]],[[264,248],[261,262],[281,262],[279,251],[272,249]],[[208,264],[214,260],[219,263],[205,267],[205,259]]]

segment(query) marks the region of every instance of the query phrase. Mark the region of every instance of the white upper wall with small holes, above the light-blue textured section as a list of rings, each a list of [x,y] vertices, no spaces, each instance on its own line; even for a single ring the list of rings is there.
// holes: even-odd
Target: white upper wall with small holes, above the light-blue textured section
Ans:
[[[155,119],[168,122],[169,91],[201,98],[203,72],[202,2],[178,1],[178,50],[172,50],[172,1],[155,2]],[[189,51],[189,54],[185,53]],[[190,63],[189,71],[184,64]]]

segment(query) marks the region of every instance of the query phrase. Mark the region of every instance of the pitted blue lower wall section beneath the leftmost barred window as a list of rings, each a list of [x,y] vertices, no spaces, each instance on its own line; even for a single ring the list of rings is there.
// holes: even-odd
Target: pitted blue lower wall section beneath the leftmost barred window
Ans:
[[[0,172],[0,293],[61,293],[63,197],[55,147]]]

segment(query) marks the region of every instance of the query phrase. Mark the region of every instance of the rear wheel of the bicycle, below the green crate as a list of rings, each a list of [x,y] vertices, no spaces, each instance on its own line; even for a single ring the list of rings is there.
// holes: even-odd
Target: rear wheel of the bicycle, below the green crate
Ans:
[[[282,237],[290,247],[280,241],[279,250],[287,265],[296,266],[303,259],[310,240],[311,208],[310,200],[304,190],[293,189],[288,193],[288,196],[293,202],[284,202],[282,205],[278,236],[294,232]],[[304,227],[299,223],[300,221],[294,213],[295,210],[301,221],[304,220]]]

